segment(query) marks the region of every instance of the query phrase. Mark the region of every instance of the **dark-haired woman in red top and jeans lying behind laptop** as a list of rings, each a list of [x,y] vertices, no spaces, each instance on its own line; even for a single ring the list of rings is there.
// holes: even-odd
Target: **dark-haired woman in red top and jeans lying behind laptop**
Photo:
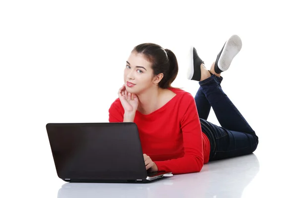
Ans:
[[[210,70],[191,49],[188,79],[200,85],[195,98],[171,87],[178,73],[171,50],[151,43],[132,50],[124,70],[125,84],[109,108],[109,122],[137,124],[148,171],[199,172],[209,161],[257,148],[258,137],[221,88],[221,72],[241,46],[240,38],[231,36]],[[211,106],[221,127],[207,121]]]

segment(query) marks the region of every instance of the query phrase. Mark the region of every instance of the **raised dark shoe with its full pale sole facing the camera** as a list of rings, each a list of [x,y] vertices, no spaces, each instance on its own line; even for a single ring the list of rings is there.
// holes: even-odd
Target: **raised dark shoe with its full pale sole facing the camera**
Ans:
[[[242,41],[239,36],[231,36],[225,43],[223,49],[218,54],[215,61],[215,72],[221,73],[226,71],[230,66],[233,58],[242,48]]]

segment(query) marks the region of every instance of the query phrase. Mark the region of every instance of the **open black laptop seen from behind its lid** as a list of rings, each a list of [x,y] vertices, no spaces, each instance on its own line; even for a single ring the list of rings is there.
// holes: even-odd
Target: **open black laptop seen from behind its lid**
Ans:
[[[148,183],[173,176],[149,172],[136,123],[48,123],[60,179],[79,183]]]

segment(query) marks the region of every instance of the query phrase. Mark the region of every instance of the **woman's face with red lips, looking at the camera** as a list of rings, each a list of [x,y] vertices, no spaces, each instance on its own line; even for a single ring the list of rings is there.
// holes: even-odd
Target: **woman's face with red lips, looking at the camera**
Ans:
[[[153,85],[153,70],[141,53],[132,52],[124,69],[125,88],[132,94],[139,94]]]

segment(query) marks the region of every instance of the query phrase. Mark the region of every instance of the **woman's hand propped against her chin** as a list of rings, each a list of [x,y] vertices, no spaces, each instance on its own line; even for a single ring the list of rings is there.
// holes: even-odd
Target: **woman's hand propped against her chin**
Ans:
[[[118,96],[126,113],[135,113],[137,111],[139,98],[137,95],[129,93],[125,85],[119,89]]]

